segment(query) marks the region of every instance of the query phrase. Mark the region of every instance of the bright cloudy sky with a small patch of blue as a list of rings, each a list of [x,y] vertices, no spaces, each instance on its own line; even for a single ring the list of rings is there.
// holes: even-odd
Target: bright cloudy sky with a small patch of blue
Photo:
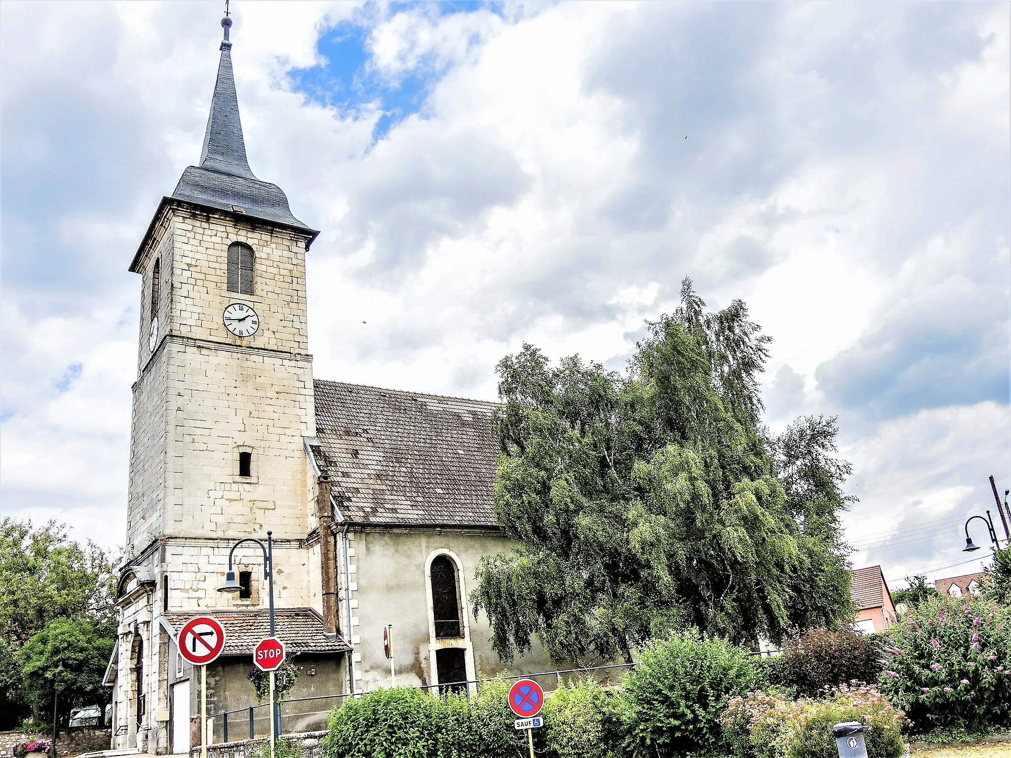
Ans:
[[[124,541],[126,269],[199,158],[221,6],[0,5],[5,516]],[[321,229],[317,378],[493,400],[525,342],[621,370],[691,277],[773,338],[773,433],[838,416],[853,566],[979,570],[962,524],[1011,488],[1007,3],[232,11],[250,164]]]

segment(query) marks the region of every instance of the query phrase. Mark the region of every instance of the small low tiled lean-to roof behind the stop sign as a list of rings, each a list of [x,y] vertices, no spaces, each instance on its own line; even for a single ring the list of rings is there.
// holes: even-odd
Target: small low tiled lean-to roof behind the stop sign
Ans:
[[[270,637],[269,610],[202,610],[192,613],[166,613],[165,621],[179,633],[191,619],[209,615],[224,629],[224,649],[221,655],[248,655],[253,660],[253,648]],[[334,653],[349,650],[339,637],[324,635],[323,619],[312,608],[279,608],[274,611],[277,638],[290,653]]]

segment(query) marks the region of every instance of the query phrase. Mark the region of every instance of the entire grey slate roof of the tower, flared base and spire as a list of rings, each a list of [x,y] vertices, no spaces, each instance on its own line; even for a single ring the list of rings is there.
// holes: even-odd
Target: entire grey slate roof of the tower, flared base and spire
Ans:
[[[232,71],[232,42],[227,39],[232,19],[225,21],[228,23],[225,25],[222,21],[225,38],[221,41],[221,60],[210,101],[207,130],[203,135],[200,165],[190,166],[183,172],[172,197],[312,231],[291,214],[288,198],[281,188],[257,179],[250,169]]]

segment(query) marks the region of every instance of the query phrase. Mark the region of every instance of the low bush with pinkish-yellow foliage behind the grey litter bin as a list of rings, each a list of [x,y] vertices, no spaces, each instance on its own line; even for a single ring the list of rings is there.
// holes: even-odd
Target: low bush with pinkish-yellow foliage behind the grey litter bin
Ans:
[[[783,692],[735,697],[722,723],[739,758],[834,758],[832,727],[860,722],[868,758],[898,758],[905,752],[905,716],[870,684],[827,690],[823,699],[792,700]]]

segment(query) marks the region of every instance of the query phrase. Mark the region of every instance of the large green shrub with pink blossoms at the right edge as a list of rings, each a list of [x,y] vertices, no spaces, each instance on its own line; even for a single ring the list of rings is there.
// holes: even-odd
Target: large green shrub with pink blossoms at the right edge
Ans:
[[[879,686],[917,732],[1011,725],[1011,609],[938,597],[886,635]]]

